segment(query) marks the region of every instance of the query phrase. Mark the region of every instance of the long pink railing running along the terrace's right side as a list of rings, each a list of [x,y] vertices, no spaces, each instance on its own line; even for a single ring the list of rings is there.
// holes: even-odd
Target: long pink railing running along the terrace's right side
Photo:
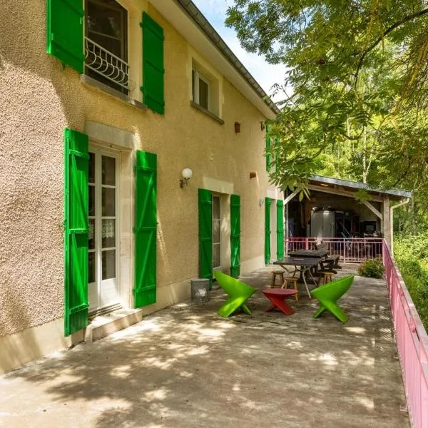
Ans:
[[[428,428],[427,332],[385,242],[382,258],[410,420],[413,428]]]

